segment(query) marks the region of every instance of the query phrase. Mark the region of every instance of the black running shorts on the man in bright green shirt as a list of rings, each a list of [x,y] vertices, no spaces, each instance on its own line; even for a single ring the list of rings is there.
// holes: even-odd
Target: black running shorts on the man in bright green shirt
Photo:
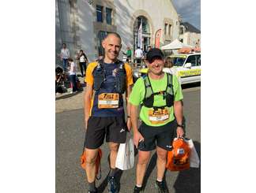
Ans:
[[[144,122],[141,123],[139,132],[144,137],[145,148],[142,151],[155,150],[156,146],[164,150],[171,150],[171,144],[175,137],[177,137],[177,123],[171,121],[160,127],[152,127]]]

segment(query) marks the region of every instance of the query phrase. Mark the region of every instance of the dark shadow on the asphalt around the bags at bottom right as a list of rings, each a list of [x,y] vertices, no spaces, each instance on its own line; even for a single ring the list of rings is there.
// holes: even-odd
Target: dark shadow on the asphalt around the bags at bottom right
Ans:
[[[201,144],[194,141],[194,147],[201,160]],[[201,192],[201,167],[198,169],[190,168],[179,172],[175,184],[175,193],[200,193]]]

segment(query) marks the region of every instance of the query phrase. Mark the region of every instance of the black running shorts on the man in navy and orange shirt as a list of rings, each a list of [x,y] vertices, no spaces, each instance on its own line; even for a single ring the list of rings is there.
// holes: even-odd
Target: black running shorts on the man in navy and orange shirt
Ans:
[[[106,142],[126,143],[126,121],[124,117],[89,117],[85,133],[85,147],[96,149]]]

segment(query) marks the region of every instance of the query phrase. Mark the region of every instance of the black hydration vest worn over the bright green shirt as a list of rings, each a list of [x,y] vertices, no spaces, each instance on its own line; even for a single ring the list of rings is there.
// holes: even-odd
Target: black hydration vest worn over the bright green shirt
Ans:
[[[165,106],[171,107],[173,106],[174,102],[174,91],[172,85],[172,74],[166,73],[168,76],[168,83],[166,86],[165,91],[153,92],[152,87],[149,80],[149,74],[144,78],[144,85],[145,85],[145,97],[142,102],[142,106],[146,106],[148,108],[164,108]],[[163,99],[165,99],[166,105],[165,106],[153,106],[154,103],[154,96],[155,95],[163,95]]]

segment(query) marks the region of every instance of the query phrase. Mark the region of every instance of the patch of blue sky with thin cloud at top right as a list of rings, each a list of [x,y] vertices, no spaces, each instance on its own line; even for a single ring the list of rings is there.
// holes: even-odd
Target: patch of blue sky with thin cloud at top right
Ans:
[[[201,4],[200,0],[172,0],[183,22],[189,22],[201,30]]]

